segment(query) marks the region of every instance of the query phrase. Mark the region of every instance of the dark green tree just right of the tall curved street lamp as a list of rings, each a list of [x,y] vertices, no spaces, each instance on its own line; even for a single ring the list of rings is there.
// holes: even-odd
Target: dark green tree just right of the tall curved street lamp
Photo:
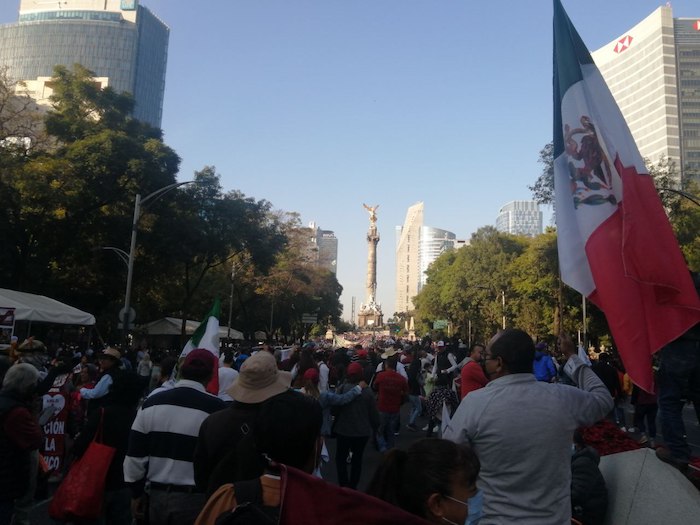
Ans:
[[[230,263],[244,254],[247,264],[265,271],[286,239],[271,204],[237,191],[223,193],[213,166],[195,172],[194,180],[169,198],[168,211],[153,217],[144,236],[151,252],[149,273],[167,260],[172,273],[166,304],[177,305],[183,320],[207,310],[211,295],[200,292],[212,271],[228,273]]]

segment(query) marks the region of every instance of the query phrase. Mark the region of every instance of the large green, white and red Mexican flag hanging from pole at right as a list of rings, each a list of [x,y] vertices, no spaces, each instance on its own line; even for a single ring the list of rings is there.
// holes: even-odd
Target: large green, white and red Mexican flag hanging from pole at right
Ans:
[[[700,300],[634,139],[554,0],[554,189],[562,280],[608,320],[627,373],[700,322]]]

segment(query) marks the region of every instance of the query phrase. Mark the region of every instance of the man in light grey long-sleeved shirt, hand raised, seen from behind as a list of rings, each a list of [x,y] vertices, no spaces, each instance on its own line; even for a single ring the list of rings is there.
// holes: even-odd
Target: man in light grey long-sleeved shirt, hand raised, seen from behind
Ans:
[[[603,382],[559,337],[576,386],[537,381],[535,345],[522,330],[491,339],[483,354],[488,385],[460,403],[443,437],[470,443],[481,461],[480,525],[564,525],[571,521],[571,436],[612,410]]]

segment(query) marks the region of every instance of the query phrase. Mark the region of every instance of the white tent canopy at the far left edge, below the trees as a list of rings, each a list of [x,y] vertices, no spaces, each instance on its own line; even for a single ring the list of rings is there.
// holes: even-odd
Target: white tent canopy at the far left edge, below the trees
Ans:
[[[15,320],[92,326],[95,316],[44,295],[0,288],[0,307],[14,308]]]

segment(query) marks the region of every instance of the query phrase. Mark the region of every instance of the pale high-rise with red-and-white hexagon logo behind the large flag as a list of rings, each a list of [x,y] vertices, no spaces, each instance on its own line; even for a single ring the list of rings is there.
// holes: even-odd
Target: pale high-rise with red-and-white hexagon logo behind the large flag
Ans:
[[[700,170],[700,19],[659,7],[592,56],[642,156]]]

